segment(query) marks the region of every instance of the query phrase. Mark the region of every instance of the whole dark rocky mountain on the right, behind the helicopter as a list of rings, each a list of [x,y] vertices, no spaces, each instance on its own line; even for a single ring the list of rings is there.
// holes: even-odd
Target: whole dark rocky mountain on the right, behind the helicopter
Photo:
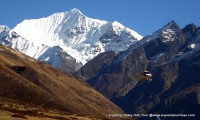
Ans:
[[[172,21],[119,53],[104,72],[87,75],[86,81],[127,113],[198,115],[199,36],[194,24],[180,29]],[[152,72],[152,82],[137,80],[145,69]]]

